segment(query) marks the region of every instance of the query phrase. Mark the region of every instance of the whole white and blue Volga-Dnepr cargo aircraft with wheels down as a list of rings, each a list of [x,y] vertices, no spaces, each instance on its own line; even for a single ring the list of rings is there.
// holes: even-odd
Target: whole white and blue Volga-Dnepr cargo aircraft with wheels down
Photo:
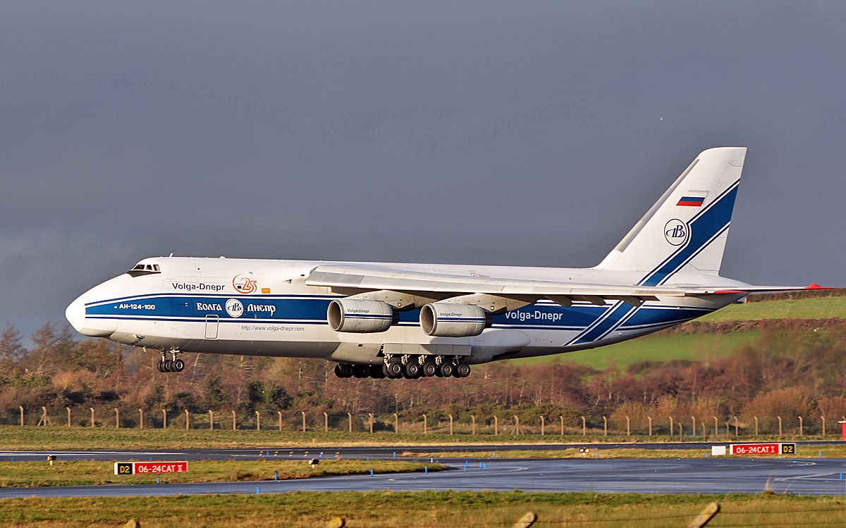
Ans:
[[[141,260],[85,291],[81,334],[162,351],[313,357],[340,378],[470,375],[470,366],[629,340],[755,291],[719,275],[746,149],[696,156],[593,268],[306,260]]]

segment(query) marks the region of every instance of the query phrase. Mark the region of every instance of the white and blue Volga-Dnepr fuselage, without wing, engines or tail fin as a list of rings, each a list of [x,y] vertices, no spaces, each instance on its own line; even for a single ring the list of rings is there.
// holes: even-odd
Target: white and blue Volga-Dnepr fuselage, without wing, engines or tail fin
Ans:
[[[465,362],[481,363],[608,345],[683,323],[743,295],[666,297],[640,307],[540,300],[492,316],[473,337],[432,337],[420,329],[419,309],[399,313],[387,331],[352,334],[327,324],[329,302],[343,295],[306,286],[316,266],[302,260],[152,258],[156,272],[119,275],[86,291],[67,310],[82,334],[162,350],[373,362],[382,347],[460,346]],[[642,273],[608,269],[528,268],[450,264],[390,264],[393,269],[501,279],[633,285]],[[678,284],[738,284],[717,275],[673,277]],[[458,348],[456,348],[458,350]]]

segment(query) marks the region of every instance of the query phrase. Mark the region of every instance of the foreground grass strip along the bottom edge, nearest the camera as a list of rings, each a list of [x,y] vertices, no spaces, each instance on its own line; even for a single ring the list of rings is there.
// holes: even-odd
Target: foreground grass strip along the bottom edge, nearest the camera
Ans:
[[[38,528],[116,527],[140,520],[158,526],[323,527],[334,517],[348,528],[508,527],[525,512],[536,526],[688,525],[711,501],[722,505],[709,527],[840,525],[846,499],[789,495],[649,495],[519,492],[283,493],[137,498],[0,500],[0,525]]]

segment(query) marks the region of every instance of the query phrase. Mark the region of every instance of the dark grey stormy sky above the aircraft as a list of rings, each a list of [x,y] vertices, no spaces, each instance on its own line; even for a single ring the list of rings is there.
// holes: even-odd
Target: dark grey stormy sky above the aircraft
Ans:
[[[178,255],[588,266],[750,148],[723,274],[846,285],[846,3],[0,6],[0,326]]]

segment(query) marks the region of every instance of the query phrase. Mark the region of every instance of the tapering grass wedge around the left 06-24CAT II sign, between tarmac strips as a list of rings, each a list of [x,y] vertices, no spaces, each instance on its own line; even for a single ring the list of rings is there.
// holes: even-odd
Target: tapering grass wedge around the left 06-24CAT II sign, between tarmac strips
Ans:
[[[309,465],[308,460],[197,460],[188,464],[184,473],[167,473],[162,482],[237,482],[272,481],[310,476],[364,475],[444,469],[439,464],[423,464],[403,460],[321,460]],[[0,462],[0,487],[90,486],[96,484],[150,484],[155,475],[114,474],[110,461],[57,460],[47,462]]]

